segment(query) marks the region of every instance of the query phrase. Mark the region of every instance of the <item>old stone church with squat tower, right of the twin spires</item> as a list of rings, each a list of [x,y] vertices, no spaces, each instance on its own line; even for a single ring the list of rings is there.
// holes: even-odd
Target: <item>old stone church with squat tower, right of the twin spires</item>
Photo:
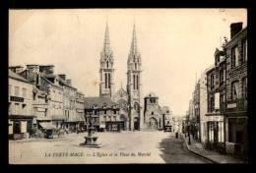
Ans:
[[[159,96],[150,92],[144,98],[145,101],[145,129],[160,130],[163,129],[163,113],[159,105]]]

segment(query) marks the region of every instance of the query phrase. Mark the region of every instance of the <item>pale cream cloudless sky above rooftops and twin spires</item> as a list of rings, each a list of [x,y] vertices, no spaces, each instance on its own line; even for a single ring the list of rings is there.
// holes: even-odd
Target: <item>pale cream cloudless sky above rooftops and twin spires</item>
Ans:
[[[246,9],[10,10],[9,66],[53,64],[86,96],[99,95],[99,59],[106,21],[114,57],[115,91],[126,88],[133,25],[142,58],[143,95],[184,116],[201,73],[231,23],[247,26]],[[228,39],[229,40],[229,39]]]

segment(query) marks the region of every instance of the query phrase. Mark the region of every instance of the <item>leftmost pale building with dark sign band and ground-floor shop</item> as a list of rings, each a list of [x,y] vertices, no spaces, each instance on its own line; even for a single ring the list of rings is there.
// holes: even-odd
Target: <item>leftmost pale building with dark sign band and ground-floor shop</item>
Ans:
[[[28,80],[9,70],[9,138],[29,138],[32,130],[32,89],[33,85]]]

